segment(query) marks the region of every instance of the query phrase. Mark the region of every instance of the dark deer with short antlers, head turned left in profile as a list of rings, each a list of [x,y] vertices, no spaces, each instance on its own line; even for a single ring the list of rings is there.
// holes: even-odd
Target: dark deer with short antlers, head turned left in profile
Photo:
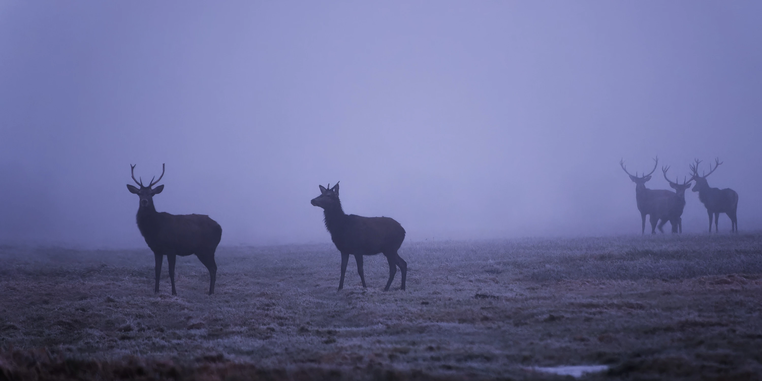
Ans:
[[[341,251],[341,279],[338,281],[338,289],[344,288],[344,273],[347,271],[349,255],[354,255],[357,261],[357,274],[365,285],[363,273],[363,255],[376,255],[383,253],[386,261],[389,261],[389,281],[386,282],[384,291],[394,280],[397,266],[402,271],[402,290],[405,290],[405,278],[408,274],[408,263],[399,258],[397,250],[405,240],[405,229],[402,225],[389,217],[362,217],[354,214],[344,214],[341,209],[341,200],[338,199],[338,183],[333,188],[320,187],[320,196],[310,201],[315,207],[322,207],[325,215],[325,229],[331,233],[331,240]],[[331,184],[328,184],[331,187]]]

